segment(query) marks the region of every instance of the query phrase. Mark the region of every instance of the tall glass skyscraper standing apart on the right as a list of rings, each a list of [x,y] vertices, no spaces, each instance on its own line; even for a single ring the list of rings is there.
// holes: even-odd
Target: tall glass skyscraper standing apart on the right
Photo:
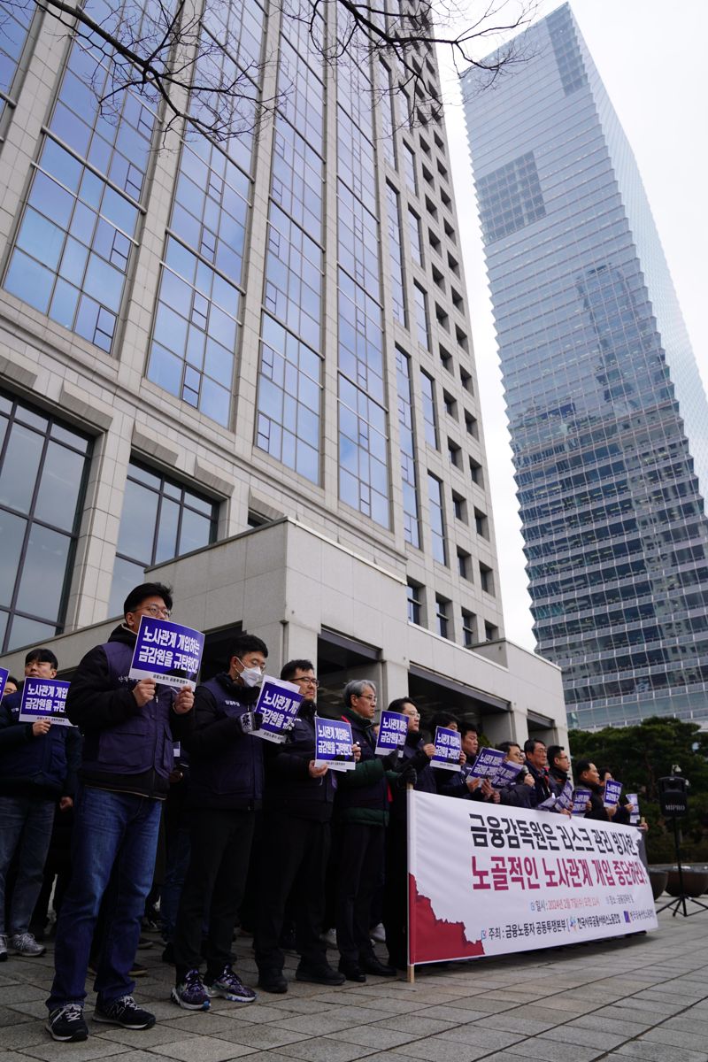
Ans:
[[[641,178],[565,4],[465,114],[539,651],[571,725],[708,721],[708,405]]]

